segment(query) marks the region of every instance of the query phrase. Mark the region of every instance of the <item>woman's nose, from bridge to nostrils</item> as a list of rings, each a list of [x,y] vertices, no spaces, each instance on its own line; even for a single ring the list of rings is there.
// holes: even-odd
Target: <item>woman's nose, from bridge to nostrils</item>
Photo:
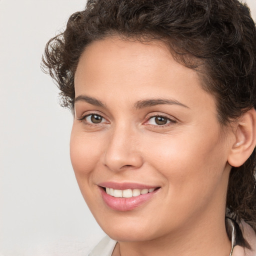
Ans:
[[[108,137],[102,162],[112,171],[136,169],[143,164],[138,136],[129,128],[115,128]]]

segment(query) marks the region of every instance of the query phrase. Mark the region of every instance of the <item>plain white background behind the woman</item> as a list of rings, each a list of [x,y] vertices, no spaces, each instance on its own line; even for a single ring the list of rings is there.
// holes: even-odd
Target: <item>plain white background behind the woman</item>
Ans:
[[[0,256],[87,255],[104,235],[70,164],[72,115],[40,70],[47,40],[84,6],[0,0]]]

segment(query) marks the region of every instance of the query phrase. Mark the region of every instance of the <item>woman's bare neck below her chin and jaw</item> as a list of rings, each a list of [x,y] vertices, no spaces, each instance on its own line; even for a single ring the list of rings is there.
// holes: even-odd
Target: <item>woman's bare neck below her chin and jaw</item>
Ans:
[[[192,221],[191,221],[192,222]],[[118,242],[112,256],[226,256],[231,250],[224,218],[218,223],[205,219],[149,241]]]

